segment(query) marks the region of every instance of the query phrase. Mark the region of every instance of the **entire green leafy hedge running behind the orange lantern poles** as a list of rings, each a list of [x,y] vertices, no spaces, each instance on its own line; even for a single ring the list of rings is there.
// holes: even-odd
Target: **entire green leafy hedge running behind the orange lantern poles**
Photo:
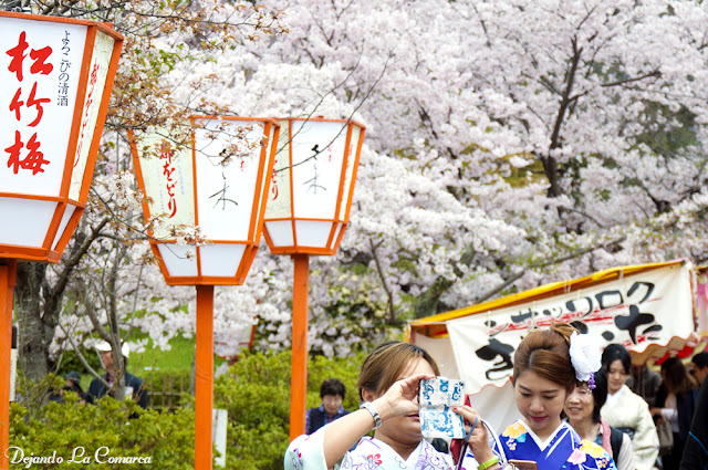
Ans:
[[[344,407],[356,409],[355,385],[362,361],[363,356],[310,361],[308,406],[320,404],[322,380],[337,377],[347,389]],[[162,382],[158,375],[165,376],[154,375],[154,383]],[[282,469],[290,434],[290,352],[246,355],[229,373],[215,380],[214,397],[215,408],[226,408],[229,414],[226,469]],[[49,458],[54,450],[56,457],[63,458],[60,464],[33,462],[32,469],[192,469],[192,406],[194,400],[187,399],[184,408],[159,412],[112,398],[104,398],[95,406],[80,405],[74,394],[66,394],[65,403],[50,403],[37,409],[30,419],[25,408],[12,404],[10,446],[21,448],[25,458]],[[131,418],[134,414],[138,417]],[[72,450],[80,448],[90,461],[80,466],[69,463]],[[108,448],[111,457],[149,457],[152,461],[149,464],[100,463],[94,457],[102,448]],[[27,468],[27,463],[10,467]]]

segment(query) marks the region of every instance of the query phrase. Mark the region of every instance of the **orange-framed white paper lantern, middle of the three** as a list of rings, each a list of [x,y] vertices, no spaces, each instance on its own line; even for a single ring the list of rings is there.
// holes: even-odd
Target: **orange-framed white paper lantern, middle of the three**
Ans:
[[[260,243],[280,125],[194,116],[191,126],[189,148],[166,147],[159,132],[133,143],[145,218],[167,222],[150,244],[169,285],[242,284]],[[180,226],[198,226],[207,243],[178,244],[171,228]]]

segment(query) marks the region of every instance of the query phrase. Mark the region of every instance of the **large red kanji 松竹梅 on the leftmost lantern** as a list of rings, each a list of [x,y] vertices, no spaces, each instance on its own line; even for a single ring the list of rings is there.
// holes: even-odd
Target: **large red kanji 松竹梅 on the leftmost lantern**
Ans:
[[[22,119],[23,112],[28,113],[28,109],[34,108],[33,115],[25,114],[25,121],[29,117],[33,117],[28,124],[28,127],[37,127],[37,125],[42,122],[42,116],[44,115],[43,104],[50,103],[51,100],[37,96],[37,85],[39,80],[43,80],[42,75],[49,75],[54,69],[54,66],[48,62],[50,55],[52,55],[52,48],[45,45],[44,48],[35,49],[35,46],[37,44],[30,45],[27,40],[27,33],[22,31],[18,38],[17,45],[6,51],[6,54],[11,58],[8,71],[14,74],[18,86],[10,102],[9,111],[14,113],[14,118],[19,124]],[[25,59],[28,55],[30,58],[28,63],[31,61],[31,64],[29,66],[29,76],[27,77],[34,82],[24,82],[27,71]],[[30,83],[32,83],[31,86]],[[22,100],[23,97],[24,101]],[[8,168],[12,168],[15,175],[20,169],[32,171],[32,175],[44,173],[42,166],[49,165],[50,161],[44,159],[44,154],[40,150],[42,144],[38,137],[38,133],[32,133],[30,129],[28,134],[32,133],[32,135],[28,138],[28,135],[22,135],[19,129],[14,129],[14,133],[12,133],[12,129],[9,130],[10,135],[14,134],[14,143],[4,148],[4,152],[9,154]],[[22,148],[24,148],[25,152],[22,152]]]

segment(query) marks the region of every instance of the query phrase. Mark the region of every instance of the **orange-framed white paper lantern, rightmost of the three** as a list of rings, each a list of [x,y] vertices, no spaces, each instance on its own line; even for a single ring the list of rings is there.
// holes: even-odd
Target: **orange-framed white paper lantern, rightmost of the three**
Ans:
[[[281,126],[268,246],[275,254],[334,254],[350,221],[365,127],[321,117],[281,119]]]

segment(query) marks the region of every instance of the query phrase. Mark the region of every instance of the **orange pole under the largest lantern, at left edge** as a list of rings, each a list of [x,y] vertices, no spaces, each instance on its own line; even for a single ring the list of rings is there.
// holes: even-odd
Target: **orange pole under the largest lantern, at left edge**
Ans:
[[[12,290],[17,262],[0,261],[0,469],[8,470],[10,447],[10,349],[12,347]]]

